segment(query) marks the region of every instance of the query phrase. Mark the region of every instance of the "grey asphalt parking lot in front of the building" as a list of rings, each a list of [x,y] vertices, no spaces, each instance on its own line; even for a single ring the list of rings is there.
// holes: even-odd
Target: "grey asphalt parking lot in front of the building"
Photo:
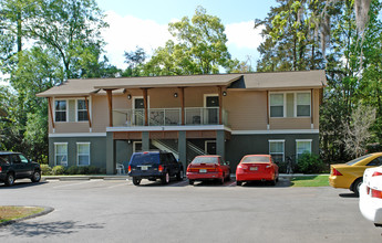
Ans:
[[[1,242],[381,242],[348,190],[186,180],[0,184],[2,205],[54,211],[0,228]]]

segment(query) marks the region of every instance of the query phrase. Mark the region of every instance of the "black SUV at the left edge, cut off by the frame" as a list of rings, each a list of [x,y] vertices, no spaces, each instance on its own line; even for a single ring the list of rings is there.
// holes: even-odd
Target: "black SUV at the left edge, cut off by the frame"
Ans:
[[[41,168],[20,152],[0,151],[0,182],[14,184],[16,179],[29,178],[32,182],[41,179]]]

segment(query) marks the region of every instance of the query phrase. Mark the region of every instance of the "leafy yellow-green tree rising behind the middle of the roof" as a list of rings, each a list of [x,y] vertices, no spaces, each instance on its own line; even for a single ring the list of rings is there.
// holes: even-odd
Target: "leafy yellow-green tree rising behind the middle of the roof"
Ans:
[[[220,19],[198,7],[189,20],[168,24],[169,40],[164,47],[155,50],[145,65],[146,75],[180,75],[218,73],[219,66],[229,67],[225,27]]]

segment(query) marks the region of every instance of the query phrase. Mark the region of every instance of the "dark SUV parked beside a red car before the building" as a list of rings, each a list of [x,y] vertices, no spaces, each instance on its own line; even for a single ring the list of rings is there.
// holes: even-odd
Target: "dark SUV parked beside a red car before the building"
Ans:
[[[161,179],[162,183],[166,184],[171,177],[176,177],[179,181],[183,180],[184,169],[172,152],[134,152],[128,163],[128,176],[133,178],[135,186],[138,186],[142,179],[149,181]]]

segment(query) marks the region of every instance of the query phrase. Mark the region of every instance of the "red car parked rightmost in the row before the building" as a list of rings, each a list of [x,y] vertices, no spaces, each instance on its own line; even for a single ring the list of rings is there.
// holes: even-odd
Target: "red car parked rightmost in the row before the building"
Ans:
[[[248,155],[242,157],[236,169],[236,184],[247,181],[270,181],[272,186],[279,180],[279,167],[269,155]]]

